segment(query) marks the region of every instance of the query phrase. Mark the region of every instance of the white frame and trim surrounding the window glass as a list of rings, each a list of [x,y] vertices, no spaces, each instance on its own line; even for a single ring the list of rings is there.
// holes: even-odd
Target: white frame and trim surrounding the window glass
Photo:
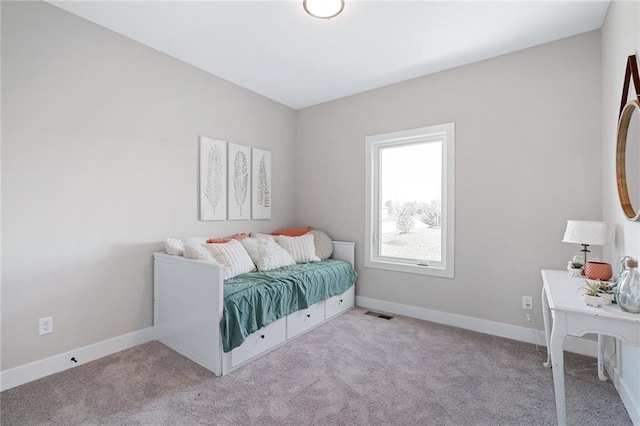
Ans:
[[[442,262],[422,262],[378,253],[380,230],[380,149],[390,146],[442,140]],[[418,129],[367,136],[365,267],[453,278],[454,276],[454,200],[455,200],[455,124],[447,123]]]

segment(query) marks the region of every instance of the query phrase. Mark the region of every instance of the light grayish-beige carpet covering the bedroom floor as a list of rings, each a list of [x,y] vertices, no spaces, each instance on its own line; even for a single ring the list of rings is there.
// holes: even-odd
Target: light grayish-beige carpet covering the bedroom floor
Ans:
[[[237,371],[151,342],[1,394],[3,425],[553,425],[543,347],[356,308]],[[570,425],[630,425],[566,354]]]

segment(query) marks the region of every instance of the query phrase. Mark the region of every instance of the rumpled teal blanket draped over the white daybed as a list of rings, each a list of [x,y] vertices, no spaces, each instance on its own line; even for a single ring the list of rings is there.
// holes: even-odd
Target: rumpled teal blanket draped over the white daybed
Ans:
[[[223,350],[237,348],[249,334],[285,315],[344,293],[357,277],[348,263],[327,259],[225,280]]]

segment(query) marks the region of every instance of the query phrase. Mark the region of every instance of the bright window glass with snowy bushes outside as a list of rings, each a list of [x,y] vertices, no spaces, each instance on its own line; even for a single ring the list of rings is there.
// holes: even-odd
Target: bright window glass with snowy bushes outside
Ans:
[[[379,256],[442,261],[442,140],[380,148]]]

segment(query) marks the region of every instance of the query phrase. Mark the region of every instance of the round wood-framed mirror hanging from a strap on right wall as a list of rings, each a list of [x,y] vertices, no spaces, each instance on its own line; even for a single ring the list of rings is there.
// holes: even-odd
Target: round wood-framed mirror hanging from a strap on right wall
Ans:
[[[627,219],[640,219],[640,102],[633,100],[622,109],[616,144],[618,197]]]

